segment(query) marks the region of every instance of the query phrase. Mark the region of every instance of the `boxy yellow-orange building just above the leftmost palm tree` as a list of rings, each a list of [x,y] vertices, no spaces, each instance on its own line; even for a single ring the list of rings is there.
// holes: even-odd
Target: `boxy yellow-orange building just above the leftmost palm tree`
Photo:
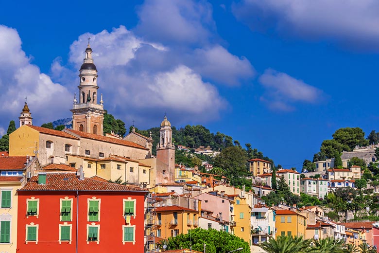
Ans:
[[[290,210],[276,210],[276,236],[306,236],[307,219]]]

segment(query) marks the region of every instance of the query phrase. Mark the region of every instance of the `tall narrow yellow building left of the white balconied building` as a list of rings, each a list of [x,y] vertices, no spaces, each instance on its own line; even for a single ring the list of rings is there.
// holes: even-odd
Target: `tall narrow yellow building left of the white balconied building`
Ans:
[[[230,196],[228,196],[230,197]],[[248,242],[251,245],[250,238],[250,216],[251,216],[251,207],[246,202],[246,198],[241,198],[239,195],[236,195],[233,199],[233,220],[236,222],[235,227],[231,227],[232,234],[241,237],[244,241]]]

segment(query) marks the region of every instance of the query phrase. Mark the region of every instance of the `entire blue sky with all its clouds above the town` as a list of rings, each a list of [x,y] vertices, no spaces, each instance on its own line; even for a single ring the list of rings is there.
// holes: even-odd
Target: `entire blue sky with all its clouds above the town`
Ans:
[[[104,107],[202,124],[301,167],[340,127],[377,130],[376,1],[3,2],[0,133],[69,117],[90,36]]]

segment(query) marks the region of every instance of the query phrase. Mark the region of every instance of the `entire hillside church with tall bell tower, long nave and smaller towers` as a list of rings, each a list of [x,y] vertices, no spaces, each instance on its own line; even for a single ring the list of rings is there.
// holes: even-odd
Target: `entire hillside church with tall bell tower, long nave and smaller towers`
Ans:
[[[104,136],[103,133],[103,95],[98,102],[97,68],[92,59],[92,49],[87,45],[85,58],[79,71],[79,96],[74,96],[72,112],[72,129],[57,131],[44,127],[33,126],[32,116],[27,103],[19,117],[20,127],[9,138],[10,156],[36,156],[42,167],[50,164],[67,164],[75,168],[83,166],[88,176],[98,176],[103,166],[99,163],[100,170],[89,170],[85,161],[93,160],[110,161],[123,160],[124,174],[100,173],[105,180],[115,180],[115,176],[121,175],[121,179],[135,183],[147,182],[150,186],[160,182],[174,181],[175,147],[172,144],[171,123],[165,116],[161,123],[160,141],[157,144],[156,157],[152,156],[153,139],[136,133],[126,135],[123,139],[114,136]],[[75,158],[76,157],[76,158]],[[78,160],[80,157],[82,160]],[[113,159],[109,159],[112,158]],[[108,160],[107,160],[108,159]],[[128,161],[129,160],[129,161]],[[72,161],[82,161],[73,163]],[[116,161],[117,162],[117,161]],[[133,163],[134,167],[127,166]],[[138,164],[138,167],[137,165]],[[114,164],[109,168],[121,169]],[[126,169],[127,168],[127,169]],[[141,176],[127,177],[127,173],[138,171]],[[99,173],[98,173],[99,171]],[[89,173],[90,172],[90,173]],[[146,175],[149,175],[147,181]],[[138,174],[139,175],[139,174]]]

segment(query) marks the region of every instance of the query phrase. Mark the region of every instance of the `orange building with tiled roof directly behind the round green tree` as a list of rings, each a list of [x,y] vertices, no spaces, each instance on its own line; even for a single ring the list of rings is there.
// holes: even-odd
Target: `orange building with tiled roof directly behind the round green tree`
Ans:
[[[155,213],[155,235],[158,237],[167,239],[187,234],[199,226],[200,211],[181,206],[161,206],[155,208]]]

